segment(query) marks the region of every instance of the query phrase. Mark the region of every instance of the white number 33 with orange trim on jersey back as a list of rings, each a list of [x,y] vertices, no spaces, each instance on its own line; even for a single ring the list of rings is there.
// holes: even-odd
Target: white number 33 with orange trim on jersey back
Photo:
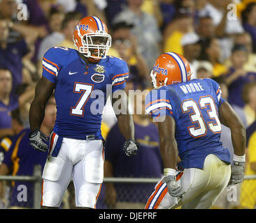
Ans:
[[[211,130],[213,133],[221,132],[221,124],[220,119],[218,118],[215,102],[210,95],[200,97],[199,105],[193,99],[185,100],[181,105],[181,109],[183,113],[190,112],[190,120],[192,124],[197,123],[198,125],[198,127],[195,125],[187,127],[187,130],[192,137],[197,138],[206,135],[207,129]],[[211,121],[207,122],[207,125],[204,120],[205,118],[201,114],[201,109],[207,109],[208,117],[205,118],[211,119]]]

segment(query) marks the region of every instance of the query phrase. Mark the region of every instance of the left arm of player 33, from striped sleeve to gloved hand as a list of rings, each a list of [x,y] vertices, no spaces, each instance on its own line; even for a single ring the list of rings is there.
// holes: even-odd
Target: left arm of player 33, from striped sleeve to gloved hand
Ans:
[[[166,183],[169,194],[182,197],[183,188],[176,181],[178,146],[175,138],[176,121],[173,118],[173,107],[165,89],[150,91],[145,98],[145,112],[157,122],[159,148],[164,164],[163,183]]]

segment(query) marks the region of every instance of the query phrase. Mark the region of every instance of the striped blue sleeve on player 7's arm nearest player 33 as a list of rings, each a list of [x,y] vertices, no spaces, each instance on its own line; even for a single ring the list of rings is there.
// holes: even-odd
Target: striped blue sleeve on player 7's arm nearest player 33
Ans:
[[[115,72],[112,77],[112,93],[117,90],[125,89],[126,79],[129,77],[129,69],[127,63],[122,59],[118,59],[118,66],[115,67]]]

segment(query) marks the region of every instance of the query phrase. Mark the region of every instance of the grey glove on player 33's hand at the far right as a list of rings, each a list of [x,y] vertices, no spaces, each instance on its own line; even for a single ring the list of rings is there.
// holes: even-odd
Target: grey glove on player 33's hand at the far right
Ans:
[[[234,185],[237,183],[242,183],[244,178],[244,168],[245,162],[234,161],[231,171],[231,178],[229,180],[229,185]]]

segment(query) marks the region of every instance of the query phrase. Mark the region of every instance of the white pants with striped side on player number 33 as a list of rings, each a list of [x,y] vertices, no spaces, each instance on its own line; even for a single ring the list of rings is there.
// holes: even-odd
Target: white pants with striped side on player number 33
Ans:
[[[231,166],[222,162],[216,155],[210,154],[204,161],[204,169],[189,168],[177,171],[176,180],[182,185],[183,197],[172,197],[166,186],[159,180],[155,191],[146,203],[146,209],[208,209],[227,187],[231,176]]]

